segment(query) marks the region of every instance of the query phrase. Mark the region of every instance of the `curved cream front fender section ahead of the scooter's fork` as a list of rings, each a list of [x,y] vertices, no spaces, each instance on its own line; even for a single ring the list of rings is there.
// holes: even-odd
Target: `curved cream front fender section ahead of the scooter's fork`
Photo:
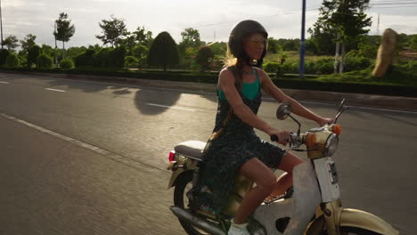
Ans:
[[[383,221],[380,217],[370,213],[344,208],[340,215],[341,227],[356,227],[386,235],[398,235],[399,231]]]

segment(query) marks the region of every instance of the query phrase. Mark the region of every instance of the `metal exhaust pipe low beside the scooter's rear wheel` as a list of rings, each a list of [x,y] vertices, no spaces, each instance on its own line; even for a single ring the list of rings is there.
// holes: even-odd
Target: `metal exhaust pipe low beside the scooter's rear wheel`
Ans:
[[[191,223],[203,231],[207,231],[210,234],[225,235],[225,231],[217,227],[215,223],[208,222],[207,220],[201,219],[196,215],[192,215],[190,212],[184,210],[181,207],[170,207],[169,209],[179,219]]]

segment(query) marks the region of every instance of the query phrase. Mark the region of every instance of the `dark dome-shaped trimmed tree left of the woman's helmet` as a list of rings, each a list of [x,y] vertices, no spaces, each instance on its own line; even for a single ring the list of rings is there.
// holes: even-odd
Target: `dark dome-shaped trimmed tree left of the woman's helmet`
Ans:
[[[164,71],[168,65],[178,64],[178,48],[176,41],[168,32],[161,32],[155,37],[148,54],[148,64],[162,66]]]

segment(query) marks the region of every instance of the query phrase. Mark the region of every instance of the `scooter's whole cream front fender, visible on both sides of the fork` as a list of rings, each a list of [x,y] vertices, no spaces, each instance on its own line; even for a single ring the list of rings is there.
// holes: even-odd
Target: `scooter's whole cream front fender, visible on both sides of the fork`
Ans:
[[[325,227],[324,215],[318,217],[308,225],[305,235],[319,235],[322,234]],[[376,215],[370,213],[343,208],[340,213],[340,227],[355,227],[368,231],[377,232],[383,235],[398,235],[399,232],[395,230],[391,225],[380,219]]]

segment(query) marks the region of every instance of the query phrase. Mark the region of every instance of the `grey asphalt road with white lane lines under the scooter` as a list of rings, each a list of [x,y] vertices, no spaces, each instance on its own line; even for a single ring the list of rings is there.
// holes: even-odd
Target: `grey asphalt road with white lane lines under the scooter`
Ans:
[[[258,115],[295,131],[277,106],[265,100]],[[168,209],[168,152],[206,141],[216,109],[213,93],[0,73],[0,234],[183,234]],[[351,107],[339,124],[344,206],[414,234],[417,113]]]

